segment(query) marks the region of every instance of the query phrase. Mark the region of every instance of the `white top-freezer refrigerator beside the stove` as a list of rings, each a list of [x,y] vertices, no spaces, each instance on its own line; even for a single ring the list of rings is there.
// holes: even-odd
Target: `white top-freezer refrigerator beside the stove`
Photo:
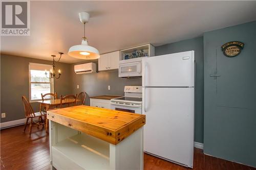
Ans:
[[[194,51],[142,59],[144,152],[193,168]]]

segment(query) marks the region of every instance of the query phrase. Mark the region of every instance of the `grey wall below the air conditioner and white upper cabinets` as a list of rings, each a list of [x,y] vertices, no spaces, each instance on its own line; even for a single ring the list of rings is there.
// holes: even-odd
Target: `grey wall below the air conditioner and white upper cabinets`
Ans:
[[[93,61],[97,64],[97,61]],[[85,62],[83,62],[85,63]],[[75,63],[81,64],[81,63]],[[99,71],[94,74],[81,74],[76,75],[74,72],[74,65],[71,67],[71,80],[72,80],[72,92],[79,93],[86,91],[89,96],[94,95],[124,95],[123,89],[125,85],[138,85],[141,86],[141,78],[136,79],[124,79],[118,78],[118,71]],[[79,85],[79,89],[77,89]],[[111,86],[111,90],[108,90],[108,85]]]

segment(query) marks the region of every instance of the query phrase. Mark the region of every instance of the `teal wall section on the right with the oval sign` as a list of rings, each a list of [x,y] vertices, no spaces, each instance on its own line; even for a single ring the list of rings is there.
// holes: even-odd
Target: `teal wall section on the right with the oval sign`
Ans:
[[[256,21],[203,37],[204,153],[256,167]],[[223,55],[229,41],[244,42],[239,56]]]

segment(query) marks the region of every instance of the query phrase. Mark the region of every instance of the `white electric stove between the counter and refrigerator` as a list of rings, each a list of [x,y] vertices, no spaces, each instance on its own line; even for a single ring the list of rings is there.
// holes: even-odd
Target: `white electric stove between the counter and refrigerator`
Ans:
[[[124,86],[124,96],[111,99],[111,109],[131,113],[142,112],[142,86]]]

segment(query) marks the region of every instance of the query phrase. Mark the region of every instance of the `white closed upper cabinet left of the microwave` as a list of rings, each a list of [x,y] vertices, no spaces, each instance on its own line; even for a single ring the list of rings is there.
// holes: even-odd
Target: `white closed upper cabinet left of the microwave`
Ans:
[[[100,55],[98,70],[118,69],[120,52],[112,52]]]

